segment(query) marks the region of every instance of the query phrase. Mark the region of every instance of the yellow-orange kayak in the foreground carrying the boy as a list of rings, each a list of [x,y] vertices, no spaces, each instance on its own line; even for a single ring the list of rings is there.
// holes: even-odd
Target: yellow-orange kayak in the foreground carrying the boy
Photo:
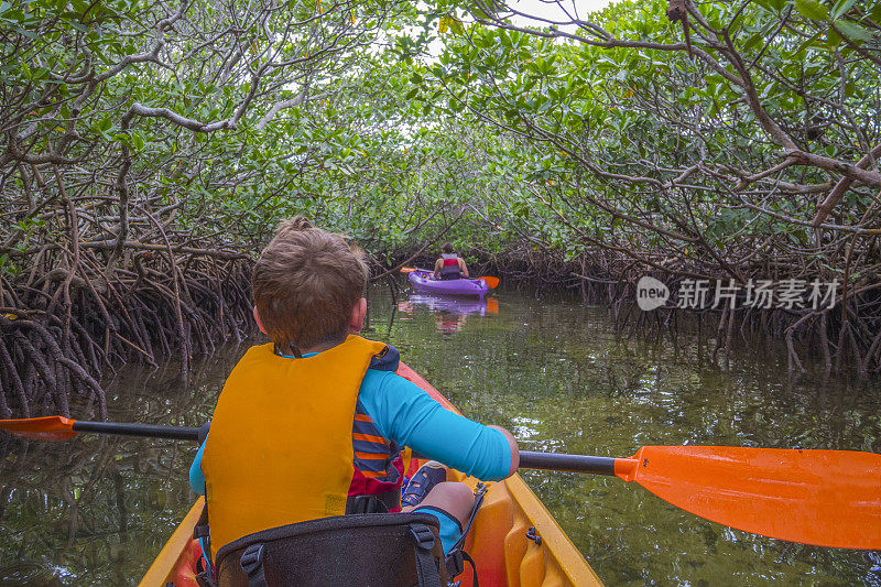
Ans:
[[[449,401],[403,362],[398,374],[413,381],[449,410]],[[413,459],[409,471],[421,465]],[[477,480],[452,471],[472,488]],[[526,483],[514,475],[504,481],[488,483],[466,551],[474,557],[481,587],[596,586],[602,585],[554,517]],[[193,540],[204,499],[184,517],[141,579],[142,587],[196,587],[196,562],[202,551]],[[463,587],[471,587],[469,572],[458,577]]]

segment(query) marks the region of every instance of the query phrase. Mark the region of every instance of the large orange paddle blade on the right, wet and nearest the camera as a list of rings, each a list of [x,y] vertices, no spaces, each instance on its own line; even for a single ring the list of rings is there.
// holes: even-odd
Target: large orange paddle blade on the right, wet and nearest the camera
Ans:
[[[644,446],[614,474],[685,511],[755,534],[881,548],[881,455],[728,446]]]

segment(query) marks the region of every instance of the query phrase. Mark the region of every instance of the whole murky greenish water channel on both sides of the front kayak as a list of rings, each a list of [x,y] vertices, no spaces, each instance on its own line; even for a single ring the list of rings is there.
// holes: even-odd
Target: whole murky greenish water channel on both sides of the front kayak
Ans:
[[[463,412],[525,448],[629,456],[642,445],[881,452],[879,381],[787,381],[772,343],[728,370],[713,338],[622,336],[602,308],[503,290],[488,304],[371,293],[388,340]],[[706,331],[706,328],[705,328]],[[710,333],[713,334],[713,333]],[[248,344],[107,382],[111,418],[198,425]],[[718,362],[718,361],[717,361]],[[74,407],[75,410],[75,407]],[[77,414],[85,415],[85,414]],[[135,584],[195,496],[184,442],[0,435],[0,585]],[[769,540],[707,522],[617,479],[523,477],[608,585],[881,585],[879,553]],[[478,561],[479,564],[479,561]]]

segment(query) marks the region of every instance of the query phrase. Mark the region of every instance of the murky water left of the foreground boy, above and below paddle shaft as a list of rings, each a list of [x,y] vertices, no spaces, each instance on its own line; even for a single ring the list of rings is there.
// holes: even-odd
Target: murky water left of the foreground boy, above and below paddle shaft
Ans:
[[[105,382],[110,420],[205,422],[247,348],[228,346],[194,365],[187,387],[176,365],[121,369]],[[137,584],[193,504],[186,471],[196,448],[183,441],[80,434],[47,442],[0,433],[0,586]]]

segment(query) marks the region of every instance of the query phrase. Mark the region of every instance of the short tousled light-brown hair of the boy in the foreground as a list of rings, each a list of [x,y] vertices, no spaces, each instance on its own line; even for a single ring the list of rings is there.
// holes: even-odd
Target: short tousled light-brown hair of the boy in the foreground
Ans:
[[[367,285],[363,251],[303,216],[283,220],[251,275],[254,305],[282,352],[342,340]]]

